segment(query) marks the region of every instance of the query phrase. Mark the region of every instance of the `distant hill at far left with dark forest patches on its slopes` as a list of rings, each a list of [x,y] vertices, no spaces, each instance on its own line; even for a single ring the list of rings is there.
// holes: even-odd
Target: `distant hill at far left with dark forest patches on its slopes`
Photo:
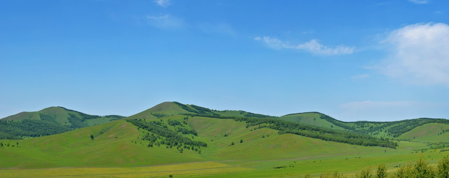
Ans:
[[[49,107],[35,112],[21,112],[1,119],[0,139],[20,139],[60,134],[121,118],[123,116],[96,116],[63,107]]]

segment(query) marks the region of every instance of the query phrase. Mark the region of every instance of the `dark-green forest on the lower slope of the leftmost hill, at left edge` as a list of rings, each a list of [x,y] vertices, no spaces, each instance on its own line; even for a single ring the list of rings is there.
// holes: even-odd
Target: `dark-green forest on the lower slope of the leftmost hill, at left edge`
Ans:
[[[24,119],[18,122],[0,120],[1,139],[21,139],[23,136],[37,137],[68,132],[71,129],[45,120]]]

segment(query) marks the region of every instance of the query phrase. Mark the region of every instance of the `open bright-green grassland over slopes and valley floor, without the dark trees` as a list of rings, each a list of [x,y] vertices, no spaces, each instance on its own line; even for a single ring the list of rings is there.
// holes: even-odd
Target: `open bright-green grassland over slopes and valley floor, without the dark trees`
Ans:
[[[396,141],[398,146],[393,149],[279,134],[269,128],[247,127],[245,122],[232,119],[195,116],[186,120],[185,115],[179,114],[186,112],[167,102],[130,118],[157,121],[171,131],[179,126],[171,126],[168,121],[183,123],[184,128],[194,129],[198,134],[182,136],[208,144],[200,148],[201,154],[190,149],[181,153],[176,147],[167,148],[163,144],[149,147],[150,141],[142,140],[148,131],[125,120],[116,120],[63,134],[0,139],[1,143],[10,145],[0,147],[0,178],[168,178],[169,175],[173,178],[297,178],[305,174],[319,177],[327,171],[351,176],[362,167],[374,169],[379,163],[385,163],[393,172],[419,157],[435,164],[448,153],[444,152],[446,148],[430,149],[423,141],[448,136],[448,133],[440,134],[449,129],[448,125],[440,123],[425,124],[401,135],[401,139],[410,140]],[[226,116],[248,114],[244,111],[212,112],[221,116],[223,113]],[[160,117],[162,114],[165,116]],[[330,122],[316,116],[309,113],[300,115],[299,119],[330,127]],[[290,115],[283,119],[297,117]],[[337,125],[332,128],[338,129]]]

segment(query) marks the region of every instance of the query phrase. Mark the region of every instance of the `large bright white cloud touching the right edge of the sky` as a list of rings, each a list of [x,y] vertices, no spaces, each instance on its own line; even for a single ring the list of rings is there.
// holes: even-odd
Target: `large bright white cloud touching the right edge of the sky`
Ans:
[[[382,42],[391,54],[376,69],[415,85],[449,87],[449,26],[444,23],[407,25]]]

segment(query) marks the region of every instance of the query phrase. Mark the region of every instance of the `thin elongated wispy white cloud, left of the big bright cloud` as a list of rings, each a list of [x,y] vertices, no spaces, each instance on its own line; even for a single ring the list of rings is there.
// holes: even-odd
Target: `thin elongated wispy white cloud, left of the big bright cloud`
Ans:
[[[349,47],[345,45],[337,45],[337,46],[321,45],[320,43],[318,43],[318,40],[311,40],[309,42],[299,45],[290,45],[288,42],[282,42],[277,38],[270,38],[270,37],[256,37],[254,38],[254,40],[256,41],[263,40],[265,44],[267,44],[272,48],[301,49],[322,55],[351,54],[354,52],[355,49],[355,47]]]

